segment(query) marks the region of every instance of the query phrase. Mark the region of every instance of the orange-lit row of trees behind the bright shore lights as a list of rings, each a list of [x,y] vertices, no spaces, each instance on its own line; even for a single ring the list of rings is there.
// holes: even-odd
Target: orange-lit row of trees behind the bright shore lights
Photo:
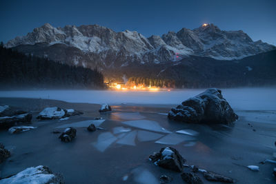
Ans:
[[[130,77],[127,85],[150,85],[160,88],[175,88],[175,81],[168,79],[151,79],[146,77]]]

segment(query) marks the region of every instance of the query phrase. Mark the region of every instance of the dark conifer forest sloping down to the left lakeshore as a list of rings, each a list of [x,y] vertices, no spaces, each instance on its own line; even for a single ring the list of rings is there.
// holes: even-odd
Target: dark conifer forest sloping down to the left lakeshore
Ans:
[[[97,70],[26,56],[0,45],[0,88],[103,88]]]

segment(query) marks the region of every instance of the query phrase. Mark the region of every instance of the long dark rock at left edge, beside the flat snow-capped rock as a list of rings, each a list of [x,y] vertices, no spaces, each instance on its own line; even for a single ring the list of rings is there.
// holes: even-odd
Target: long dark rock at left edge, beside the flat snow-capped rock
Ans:
[[[0,129],[12,127],[17,123],[30,123],[30,121],[32,121],[32,114],[30,113],[17,114],[17,113],[12,116],[1,116]]]

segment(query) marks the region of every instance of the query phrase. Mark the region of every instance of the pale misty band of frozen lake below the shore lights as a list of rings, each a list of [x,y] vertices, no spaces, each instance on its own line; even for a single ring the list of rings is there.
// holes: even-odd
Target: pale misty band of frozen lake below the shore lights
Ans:
[[[179,104],[204,89],[157,92],[112,90],[24,90],[0,91],[0,97],[55,99],[70,103]],[[223,89],[224,98],[235,110],[276,110],[276,88]]]

